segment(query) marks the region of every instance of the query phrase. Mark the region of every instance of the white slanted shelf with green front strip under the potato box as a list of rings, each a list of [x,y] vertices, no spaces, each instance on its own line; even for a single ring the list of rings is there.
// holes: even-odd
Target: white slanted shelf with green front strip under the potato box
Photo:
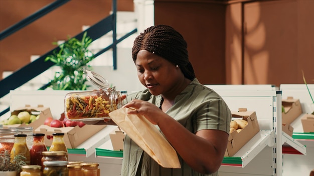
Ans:
[[[222,165],[245,167],[263,148],[273,146],[273,130],[260,130],[232,157],[224,157]]]

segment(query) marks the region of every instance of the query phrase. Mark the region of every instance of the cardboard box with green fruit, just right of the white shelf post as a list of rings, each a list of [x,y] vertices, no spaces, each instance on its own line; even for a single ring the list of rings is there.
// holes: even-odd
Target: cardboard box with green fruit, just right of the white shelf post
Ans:
[[[302,114],[302,107],[299,99],[293,99],[288,96],[287,99],[281,100],[284,112],[282,112],[282,124],[291,124],[299,115]]]

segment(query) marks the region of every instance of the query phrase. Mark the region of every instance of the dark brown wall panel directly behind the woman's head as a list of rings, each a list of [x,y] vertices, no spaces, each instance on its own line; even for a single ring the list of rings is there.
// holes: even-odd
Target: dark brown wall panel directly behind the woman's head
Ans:
[[[176,28],[188,42],[190,61],[202,83],[225,83],[225,5],[154,2],[155,24]]]

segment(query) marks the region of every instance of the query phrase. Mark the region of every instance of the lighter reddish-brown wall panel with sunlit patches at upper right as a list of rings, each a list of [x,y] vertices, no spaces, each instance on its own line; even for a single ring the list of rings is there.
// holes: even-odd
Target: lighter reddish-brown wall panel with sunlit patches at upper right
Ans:
[[[302,83],[313,75],[314,1],[275,0],[244,5],[244,83]],[[310,68],[311,67],[311,68]]]

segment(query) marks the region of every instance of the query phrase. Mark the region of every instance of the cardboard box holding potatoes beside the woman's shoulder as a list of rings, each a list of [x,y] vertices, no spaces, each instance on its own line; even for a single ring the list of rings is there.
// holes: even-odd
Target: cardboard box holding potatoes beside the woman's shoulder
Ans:
[[[229,134],[225,156],[233,156],[239,151],[255,134],[259,132],[259,125],[255,111],[247,111],[246,108],[239,108],[239,111],[232,112],[232,117],[246,120],[247,125],[240,131],[233,131]]]

